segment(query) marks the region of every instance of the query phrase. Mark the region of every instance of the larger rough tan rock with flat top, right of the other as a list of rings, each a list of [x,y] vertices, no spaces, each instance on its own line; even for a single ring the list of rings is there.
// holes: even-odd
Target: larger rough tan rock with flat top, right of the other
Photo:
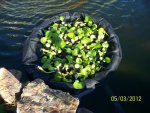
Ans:
[[[36,79],[23,89],[17,113],[76,113],[79,100]]]

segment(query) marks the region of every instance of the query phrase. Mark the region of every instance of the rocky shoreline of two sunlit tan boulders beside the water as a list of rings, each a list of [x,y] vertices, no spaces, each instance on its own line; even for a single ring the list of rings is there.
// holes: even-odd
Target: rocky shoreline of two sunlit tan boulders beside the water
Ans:
[[[76,113],[79,105],[79,99],[41,79],[24,85],[5,68],[0,68],[0,100],[16,113]]]

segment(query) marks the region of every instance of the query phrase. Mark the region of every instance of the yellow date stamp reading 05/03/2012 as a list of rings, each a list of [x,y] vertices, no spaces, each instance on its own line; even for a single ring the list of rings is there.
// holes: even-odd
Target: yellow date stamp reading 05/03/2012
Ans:
[[[142,96],[111,96],[110,100],[112,102],[119,101],[119,102],[141,102]]]

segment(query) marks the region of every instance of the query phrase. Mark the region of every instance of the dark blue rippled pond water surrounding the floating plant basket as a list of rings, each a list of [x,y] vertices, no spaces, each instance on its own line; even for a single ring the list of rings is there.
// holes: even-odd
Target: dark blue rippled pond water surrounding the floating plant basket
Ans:
[[[118,34],[123,51],[107,85],[84,96],[81,107],[94,113],[148,113],[150,0],[0,0],[0,67],[21,70],[22,81],[27,80],[21,63],[23,42],[43,20],[65,11],[104,17]],[[141,96],[142,102],[113,103],[110,95]]]

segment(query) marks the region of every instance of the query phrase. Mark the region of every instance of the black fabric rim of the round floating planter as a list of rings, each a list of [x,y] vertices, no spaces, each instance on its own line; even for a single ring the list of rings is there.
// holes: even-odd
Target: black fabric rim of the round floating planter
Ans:
[[[66,21],[71,21],[76,18],[84,18],[86,14],[79,14],[79,13],[70,14],[68,12],[65,12],[60,15],[64,16]],[[103,26],[106,32],[108,32],[109,34],[108,41],[111,44],[110,44],[109,52],[107,54],[111,56],[112,62],[107,66],[107,68],[104,71],[96,73],[94,79],[87,80],[86,88],[83,90],[74,89],[72,84],[70,83],[54,82],[52,81],[52,78],[54,76],[53,74],[51,76],[43,74],[40,71],[38,71],[37,66],[40,65],[40,61],[39,61],[40,47],[41,47],[40,38],[44,36],[42,30],[50,26],[52,23],[59,21],[60,15],[53,16],[45,20],[38,27],[34,28],[30,37],[25,41],[22,61],[31,80],[36,79],[36,78],[41,78],[51,88],[62,89],[63,91],[68,91],[72,94],[82,95],[81,92],[90,92],[92,89],[95,88],[95,85],[99,83],[98,81],[104,79],[108,75],[109,72],[115,71],[117,69],[122,58],[119,38],[114,33],[111,25],[105,19],[103,18],[94,19],[94,17],[92,17],[94,22]]]

